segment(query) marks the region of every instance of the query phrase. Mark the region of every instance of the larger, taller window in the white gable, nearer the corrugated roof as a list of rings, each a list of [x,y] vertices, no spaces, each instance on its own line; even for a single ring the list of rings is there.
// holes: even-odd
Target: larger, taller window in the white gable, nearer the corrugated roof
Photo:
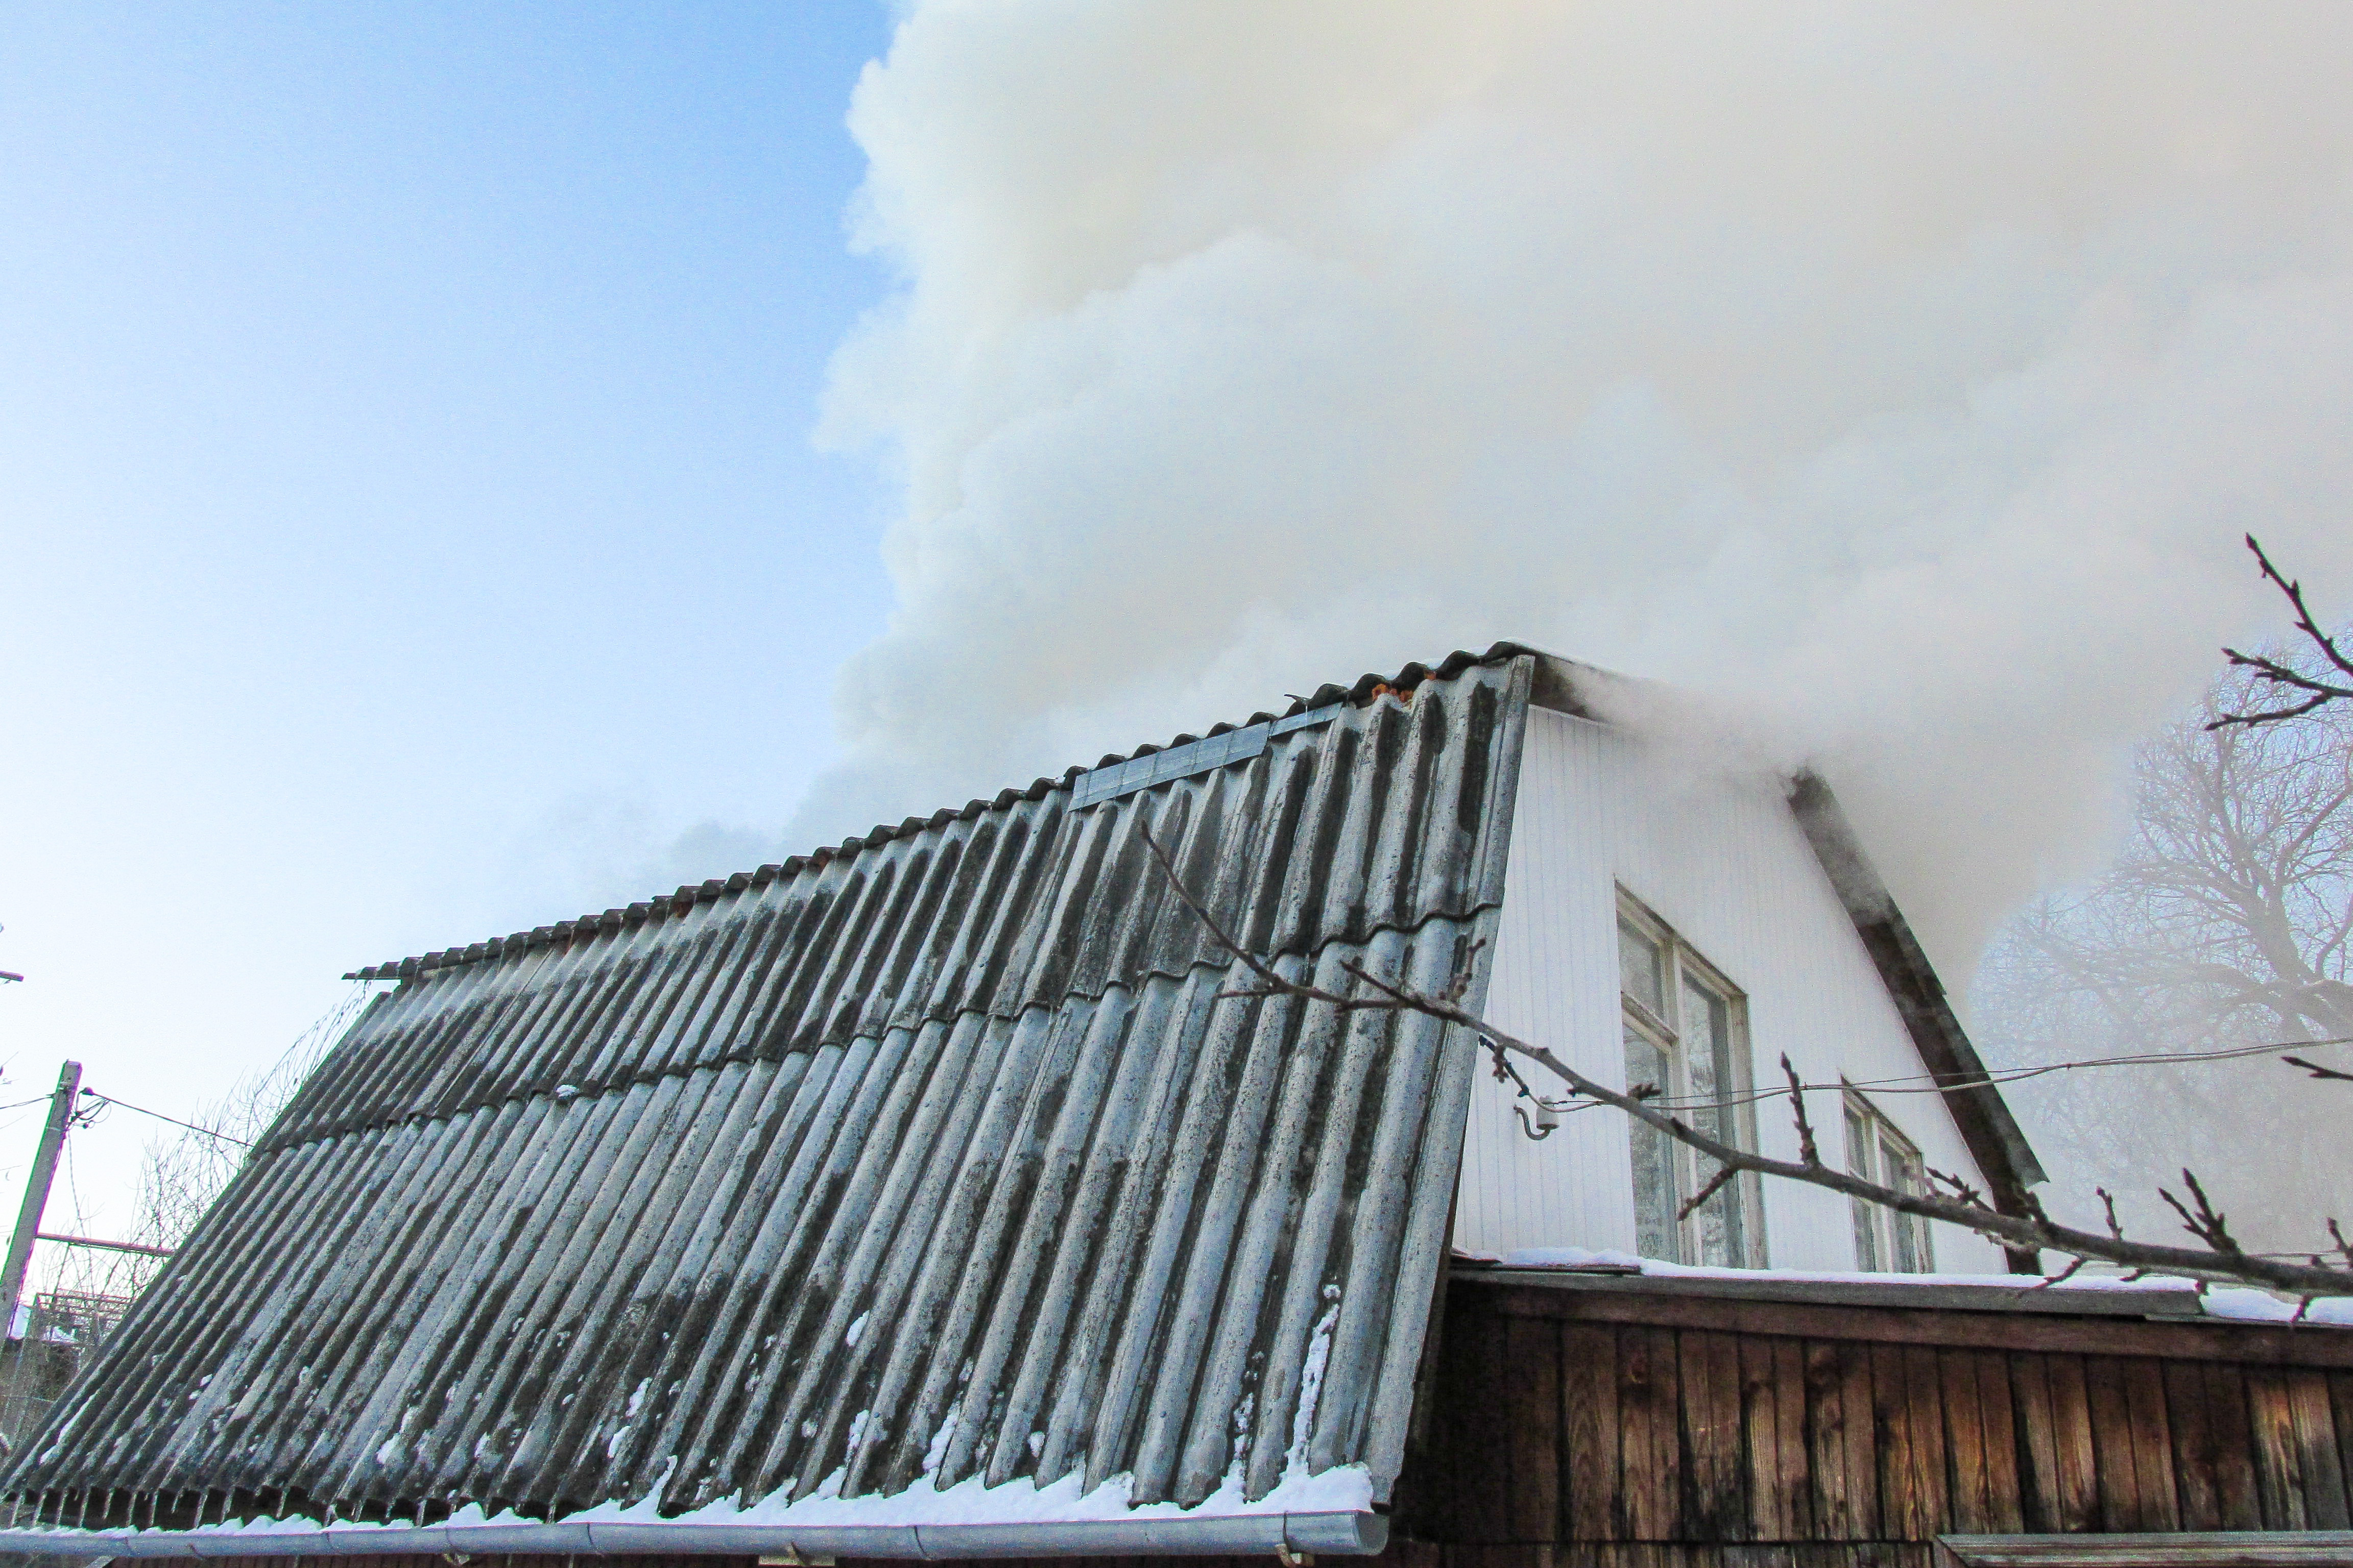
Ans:
[[[1626,1023],[1626,1086],[1649,1084],[1657,1103],[1697,1131],[1744,1150],[1755,1147],[1748,999],[1624,891],[1619,1001]],[[1628,1128],[1635,1251],[1668,1262],[1765,1267],[1755,1178],[1732,1178],[1689,1218],[1678,1218],[1720,1166],[1642,1121],[1628,1119]]]

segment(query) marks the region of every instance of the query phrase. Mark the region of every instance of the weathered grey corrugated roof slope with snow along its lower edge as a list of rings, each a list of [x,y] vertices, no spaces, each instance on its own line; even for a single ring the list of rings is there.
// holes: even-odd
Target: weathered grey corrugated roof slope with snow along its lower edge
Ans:
[[[431,1521],[835,1474],[1198,1502],[1365,1462],[1386,1495],[1473,1053],[1221,999],[1247,973],[1141,827],[1289,971],[1440,985],[1501,903],[1532,665],[1407,668],[1412,701],[1367,677],[1089,809],[1040,780],[369,971],[405,985],[9,1493],[68,1523]]]

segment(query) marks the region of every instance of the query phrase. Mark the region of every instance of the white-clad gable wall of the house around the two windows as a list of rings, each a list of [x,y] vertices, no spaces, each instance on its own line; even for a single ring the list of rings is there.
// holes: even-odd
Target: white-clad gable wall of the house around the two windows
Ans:
[[[1915,1077],[1920,1056],[1847,910],[1788,811],[1779,778],[1729,778],[1619,729],[1548,708],[1527,717],[1520,804],[1487,1016],[1581,1072],[1624,1084],[1617,886],[1626,886],[1748,994],[1753,1077],[1786,1051],[1807,1081]],[[1454,1244],[1633,1251],[1626,1119],[1574,1112],[1544,1143],[1520,1133],[1513,1091],[1480,1072],[1471,1098]],[[1937,1095],[1875,1105],[1939,1171],[1979,1171]],[[1835,1095],[1809,1100],[1826,1159],[1845,1159]],[[1784,1103],[1758,1107],[1758,1143],[1795,1159]],[[1852,1269],[1847,1199],[1762,1182],[1772,1267]],[[1934,1227],[1939,1272],[2002,1272],[2002,1253]]]

